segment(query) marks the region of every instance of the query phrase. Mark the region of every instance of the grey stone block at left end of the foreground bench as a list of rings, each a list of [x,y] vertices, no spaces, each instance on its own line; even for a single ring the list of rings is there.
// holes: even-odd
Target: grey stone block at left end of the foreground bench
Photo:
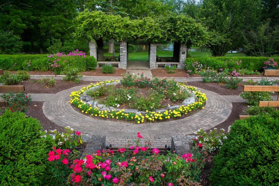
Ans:
[[[95,153],[97,150],[105,149],[105,135],[86,135],[85,138],[87,145],[82,157],[85,157],[87,154]]]

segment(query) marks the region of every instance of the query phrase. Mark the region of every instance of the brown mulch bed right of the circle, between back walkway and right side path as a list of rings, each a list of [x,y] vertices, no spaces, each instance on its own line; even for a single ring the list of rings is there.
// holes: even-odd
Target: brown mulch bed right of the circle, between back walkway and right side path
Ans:
[[[241,86],[238,89],[228,89],[224,83],[203,83],[202,81],[191,81],[187,82],[187,84],[209,90],[220,95],[239,95],[243,92],[245,82],[240,83]]]

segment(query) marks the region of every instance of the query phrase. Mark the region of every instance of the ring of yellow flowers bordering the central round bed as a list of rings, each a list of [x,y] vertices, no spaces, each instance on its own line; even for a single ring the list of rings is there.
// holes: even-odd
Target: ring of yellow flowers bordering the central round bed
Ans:
[[[96,84],[91,83],[87,87],[82,87],[78,91],[73,91],[70,95],[70,103],[73,104],[75,107],[79,108],[81,112],[95,116],[95,117],[103,117],[103,118],[115,118],[115,119],[126,119],[128,121],[133,121],[137,124],[143,123],[144,121],[146,122],[152,122],[156,120],[165,120],[165,119],[170,119],[170,118],[178,118],[181,117],[182,115],[186,115],[188,112],[191,112],[192,110],[202,108],[204,109],[204,103],[207,101],[207,97],[205,93],[201,93],[199,90],[197,91],[196,87],[184,85],[181,83],[178,83],[178,85],[181,85],[189,90],[191,90],[197,97],[198,101],[190,104],[190,105],[181,105],[179,108],[174,109],[174,110],[165,110],[164,112],[151,112],[146,110],[146,114],[142,115],[136,115],[135,113],[129,112],[125,113],[125,110],[122,109],[120,111],[116,110],[100,110],[98,107],[93,108],[92,105],[87,105],[86,103],[83,102],[83,100],[80,99],[81,94],[88,90],[91,87],[96,87],[98,85],[102,85],[105,83],[112,83],[112,82],[118,82],[118,80],[110,80],[110,81],[101,81],[97,82]]]

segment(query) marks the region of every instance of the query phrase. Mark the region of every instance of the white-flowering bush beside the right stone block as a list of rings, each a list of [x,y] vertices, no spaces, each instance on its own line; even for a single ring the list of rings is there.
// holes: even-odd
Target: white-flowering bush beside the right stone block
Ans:
[[[199,129],[195,134],[198,136],[193,140],[194,144],[199,146],[203,151],[216,151],[223,145],[223,140],[227,139],[225,130],[223,128],[218,132],[217,128],[210,130],[209,133],[203,129]]]

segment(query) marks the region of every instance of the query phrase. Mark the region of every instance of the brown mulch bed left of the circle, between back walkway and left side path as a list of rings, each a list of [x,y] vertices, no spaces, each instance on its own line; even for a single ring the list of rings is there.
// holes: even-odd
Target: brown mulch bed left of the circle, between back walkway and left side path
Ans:
[[[24,85],[26,93],[44,93],[44,94],[55,94],[62,90],[67,90],[71,87],[76,87],[80,85],[88,85],[90,83],[96,83],[96,81],[80,81],[79,83],[55,80],[56,85],[54,87],[45,87],[44,83],[34,83],[35,80],[29,79],[23,81],[19,85]]]

